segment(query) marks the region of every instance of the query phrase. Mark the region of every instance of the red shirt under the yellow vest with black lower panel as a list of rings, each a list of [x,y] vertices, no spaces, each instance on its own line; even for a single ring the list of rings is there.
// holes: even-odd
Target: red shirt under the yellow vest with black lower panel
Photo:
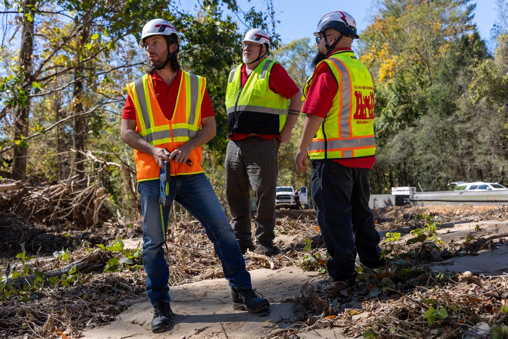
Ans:
[[[243,64],[241,69],[242,86],[245,84],[245,81],[247,81],[247,69],[245,64]],[[272,66],[272,69],[270,70],[270,78],[268,79],[268,88],[270,88],[273,93],[278,93],[286,99],[293,97],[300,91],[300,88],[298,88],[296,83],[289,76],[288,72],[282,66],[280,66],[280,64],[275,64]],[[250,134],[248,133],[233,132],[229,136],[229,139],[242,140],[247,138],[249,135]],[[266,140],[273,140],[273,138],[278,137],[276,135],[266,134],[256,134],[256,136]]]

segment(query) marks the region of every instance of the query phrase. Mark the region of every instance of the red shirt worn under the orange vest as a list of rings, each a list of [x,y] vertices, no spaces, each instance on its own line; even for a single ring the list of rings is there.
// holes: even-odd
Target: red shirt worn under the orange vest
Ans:
[[[176,98],[178,97],[178,88],[180,86],[181,78],[182,71],[179,70],[176,74],[175,80],[173,80],[171,83],[171,86],[168,86],[166,81],[157,75],[157,72],[153,72],[152,74],[152,83],[153,90],[155,91],[155,97],[157,98],[159,106],[161,106],[164,116],[168,120],[173,117],[173,113],[175,111]],[[215,116],[215,112],[213,112],[212,102],[208,96],[208,91],[205,89],[205,96],[201,102],[201,118],[206,118],[208,116]],[[125,106],[123,106],[122,118],[133,120],[136,119],[136,107],[134,106],[134,102],[129,95],[125,100]]]

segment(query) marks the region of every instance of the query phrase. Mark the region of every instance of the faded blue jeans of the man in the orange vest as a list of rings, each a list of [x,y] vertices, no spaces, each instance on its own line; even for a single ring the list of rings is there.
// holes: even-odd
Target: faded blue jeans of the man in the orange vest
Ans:
[[[159,180],[138,183],[143,213],[143,266],[146,272],[146,292],[152,305],[171,301],[169,296],[169,267],[164,257],[170,207],[158,203]],[[204,173],[172,176],[170,200],[179,202],[205,228],[206,235],[223,266],[224,277],[231,288],[252,288],[245,259],[240,252],[233,228]]]

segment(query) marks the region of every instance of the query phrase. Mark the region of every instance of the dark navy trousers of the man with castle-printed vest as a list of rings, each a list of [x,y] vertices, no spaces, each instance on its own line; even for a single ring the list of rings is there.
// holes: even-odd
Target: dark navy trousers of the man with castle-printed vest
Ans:
[[[345,167],[333,160],[313,160],[310,180],[317,224],[330,254],[328,273],[344,282],[356,274],[355,260],[381,263],[379,234],[369,207],[370,169]]]

